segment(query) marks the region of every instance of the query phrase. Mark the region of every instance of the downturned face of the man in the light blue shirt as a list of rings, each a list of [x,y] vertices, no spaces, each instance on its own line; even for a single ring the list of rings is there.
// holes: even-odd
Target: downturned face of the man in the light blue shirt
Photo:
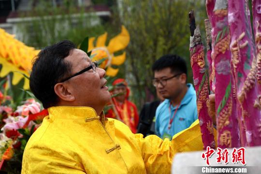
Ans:
[[[154,72],[154,79],[157,82],[160,82],[160,80],[168,79],[176,74],[177,73],[171,72],[171,68],[164,68],[160,71]],[[169,80],[166,81],[165,84],[163,83],[163,85],[161,83],[158,83],[156,88],[163,98],[174,99],[181,93],[182,88],[186,84],[186,78],[184,80],[184,78],[181,77],[182,75],[177,75],[174,78],[170,78]]]

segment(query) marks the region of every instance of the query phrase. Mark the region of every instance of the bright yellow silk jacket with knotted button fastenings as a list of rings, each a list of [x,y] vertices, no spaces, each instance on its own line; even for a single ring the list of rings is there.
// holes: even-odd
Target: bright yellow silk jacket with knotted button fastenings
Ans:
[[[133,134],[89,107],[48,111],[26,145],[22,174],[168,174],[175,153],[203,149],[198,120],[169,141]]]

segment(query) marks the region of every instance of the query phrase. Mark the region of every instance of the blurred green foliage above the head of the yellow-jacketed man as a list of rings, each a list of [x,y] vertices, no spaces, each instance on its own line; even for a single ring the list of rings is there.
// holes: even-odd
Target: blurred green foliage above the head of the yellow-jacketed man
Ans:
[[[92,10],[85,11],[70,0],[63,6],[54,7],[50,0],[39,0],[39,5],[24,17],[34,16],[31,21],[21,23],[18,32],[22,41],[41,49],[61,40],[81,43],[86,36],[97,36],[104,32],[101,19]],[[22,16],[22,17],[23,17]]]

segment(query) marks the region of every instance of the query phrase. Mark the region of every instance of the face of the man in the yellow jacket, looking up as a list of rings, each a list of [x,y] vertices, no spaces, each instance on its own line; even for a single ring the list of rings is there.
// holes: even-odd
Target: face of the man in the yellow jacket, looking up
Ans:
[[[65,61],[72,65],[71,74],[91,65],[91,60],[87,54],[79,49],[73,49],[72,53],[65,58]],[[108,87],[105,86],[105,71],[97,68],[96,73],[92,69],[85,73],[72,77],[65,83],[69,83],[70,92],[75,96],[75,102],[79,106],[88,106],[92,108],[103,107],[110,101],[111,95]]]

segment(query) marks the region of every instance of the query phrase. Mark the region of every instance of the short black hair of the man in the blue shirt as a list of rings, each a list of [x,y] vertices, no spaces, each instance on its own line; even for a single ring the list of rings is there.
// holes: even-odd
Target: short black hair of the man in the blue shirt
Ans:
[[[187,64],[184,58],[177,55],[164,55],[154,62],[152,71],[160,71],[171,68],[172,73],[185,73],[187,75]]]

